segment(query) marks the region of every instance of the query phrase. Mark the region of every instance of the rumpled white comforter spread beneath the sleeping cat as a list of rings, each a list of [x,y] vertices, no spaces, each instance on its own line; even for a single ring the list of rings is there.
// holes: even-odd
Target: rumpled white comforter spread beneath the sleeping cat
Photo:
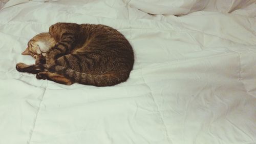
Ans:
[[[178,17],[135,0],[42,2],[0,11],[0,144],[256,143],[255,1]],[[16,71],[34,63],[20,54],[28,40],[56,22],[119,30],[135,52],[130,78],[65,86]]]

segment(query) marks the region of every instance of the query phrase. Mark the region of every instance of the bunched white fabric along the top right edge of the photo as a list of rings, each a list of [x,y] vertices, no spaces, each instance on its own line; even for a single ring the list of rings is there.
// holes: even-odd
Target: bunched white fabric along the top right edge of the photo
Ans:
[[[123,0],[133,8],[151,14],[184,15],[195,11],[231,13],[255,4],[255,0]]]

